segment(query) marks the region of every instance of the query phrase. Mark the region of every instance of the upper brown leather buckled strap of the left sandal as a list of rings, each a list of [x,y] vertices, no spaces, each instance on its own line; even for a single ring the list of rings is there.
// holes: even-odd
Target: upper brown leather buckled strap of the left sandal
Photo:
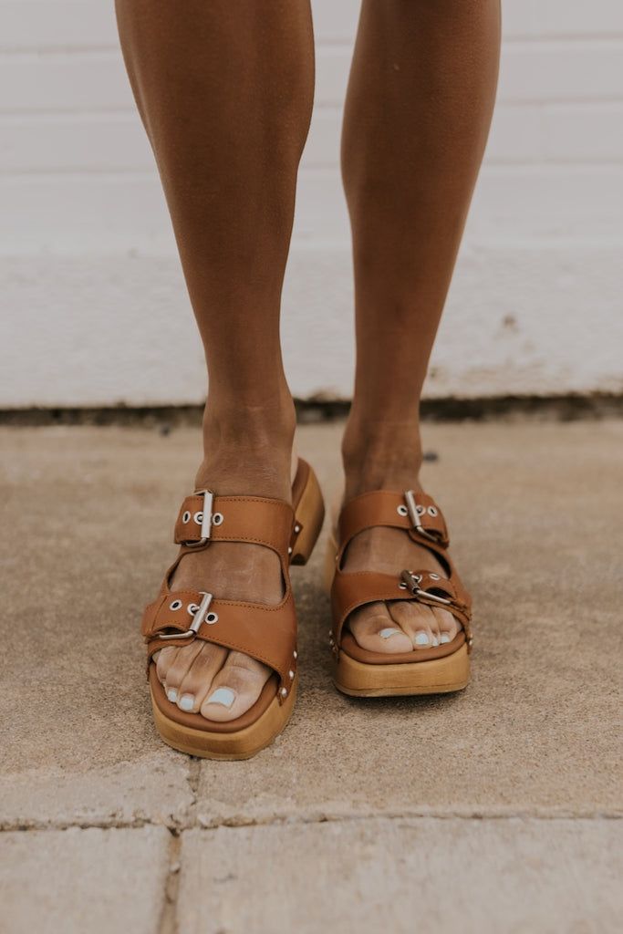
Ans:
[[[206,508],[210,515],[205,517]],[[249,542],[284,557],[292,537],[294,514],[289,503],[260,496],[205,496],[193,493],[177,515],[177,545]]]

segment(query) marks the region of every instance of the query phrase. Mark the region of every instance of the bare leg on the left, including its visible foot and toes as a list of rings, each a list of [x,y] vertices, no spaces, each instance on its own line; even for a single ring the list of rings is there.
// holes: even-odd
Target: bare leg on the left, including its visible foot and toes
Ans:
[[[295,419],[279,304],[313,97],[308,0],[117,0],[117,16],[205,347],[197,485],[290,499]],[[189,555],[173,585],[282,596],[276,555],[254,545]],[[183,710],[225,720],[257,700],[269,672],[197,643],[163,649],[158,673]]]

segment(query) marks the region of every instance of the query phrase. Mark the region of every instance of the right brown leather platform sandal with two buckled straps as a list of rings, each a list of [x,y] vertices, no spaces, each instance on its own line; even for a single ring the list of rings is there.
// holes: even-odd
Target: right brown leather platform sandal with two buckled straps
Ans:
[[[359,532],[375,526],[403,529],[414,542],[432,551],[446,576],[417,568],[397,568],[395,574],[342,571],[348,544]],[[447,553],[448,542],[441,509],[426,493],[377,490],[344,506],[328,557],[328,571],[333,576],[329,641],[335,664],[333,680],[340,691],[356,697],[389,697],[444,694],[467,685],[473,642],[472,601]],[[347,630],[348,616],[366,603],[396,600],[444,607],[462,629],[452,642],[418,651],[388,655],[361,648]]]

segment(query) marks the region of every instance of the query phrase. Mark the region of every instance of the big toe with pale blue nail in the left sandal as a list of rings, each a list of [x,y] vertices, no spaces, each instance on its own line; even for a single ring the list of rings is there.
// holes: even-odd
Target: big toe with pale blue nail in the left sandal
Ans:
[[[207,720],[223,722],[245,714],[258,700],[271,670],[255,658],[230,652],[201,704]]]

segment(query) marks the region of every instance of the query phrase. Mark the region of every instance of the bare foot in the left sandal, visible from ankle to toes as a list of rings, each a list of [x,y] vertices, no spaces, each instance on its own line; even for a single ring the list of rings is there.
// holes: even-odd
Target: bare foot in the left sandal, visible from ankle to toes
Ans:
[[[240,420],[240,414],[237,416]],[[256,495],[291,502],[293,415],[284,428],[262,424],[245,413],[240,432],[228,425],[207,428],[208,452],[196,488],[221,496]],[[205,590],[223,600],[275,605],[284,596],[279,559],[262,545],[212,542],[180,560],[171,589]],[[196,640],[157,653],[156,672],[166,695],[180,710],[225,722],[245,714],[258,700],[271,669],[241,652]]]

